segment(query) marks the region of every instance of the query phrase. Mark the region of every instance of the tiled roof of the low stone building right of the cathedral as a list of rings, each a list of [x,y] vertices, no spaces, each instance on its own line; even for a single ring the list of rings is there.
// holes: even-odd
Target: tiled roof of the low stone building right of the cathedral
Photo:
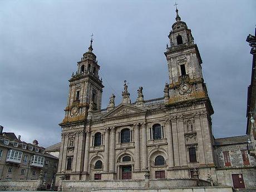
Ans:
[[[214,145],[232,145],[247,142],[250,138],[249,135],[241,135],[234,137],[217,138],[214,140]]]

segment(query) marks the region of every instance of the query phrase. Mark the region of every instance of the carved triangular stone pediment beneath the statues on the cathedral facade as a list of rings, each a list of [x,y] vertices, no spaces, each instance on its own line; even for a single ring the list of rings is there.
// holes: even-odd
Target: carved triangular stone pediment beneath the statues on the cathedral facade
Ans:
[[[112,110],[112,111],[108,112],[106,115],[104,115],[102,117],[102,119],[124,116],[124,115],[131,115],[131,114],[138,114],[141,112],[146,112],[146,110],[141,109],[136,106],[132,106],[132,105],[121,104],[121,105],[117,106],[114,110]]]

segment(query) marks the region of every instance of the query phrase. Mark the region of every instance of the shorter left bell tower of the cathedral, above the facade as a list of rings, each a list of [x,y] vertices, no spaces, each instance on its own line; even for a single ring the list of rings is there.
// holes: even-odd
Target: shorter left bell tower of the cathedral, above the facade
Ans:
[[[92,38],[88,51],[83,53],[81,61],[77,62],[76,74],[72,74],[68,92],[65,118],[62,123],[85,120],[89,104],[94,110],[101,109],[102,80],[99,78],[100,65],[92,52]]]

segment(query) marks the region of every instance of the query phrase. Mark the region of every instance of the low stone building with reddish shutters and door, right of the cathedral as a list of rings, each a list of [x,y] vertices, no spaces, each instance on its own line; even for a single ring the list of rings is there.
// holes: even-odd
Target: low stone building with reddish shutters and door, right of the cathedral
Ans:
[[[248,154],[250,136],[235,136],[214,140],[216,175],[219,185],[234,188],[256,188],[256,163]]]

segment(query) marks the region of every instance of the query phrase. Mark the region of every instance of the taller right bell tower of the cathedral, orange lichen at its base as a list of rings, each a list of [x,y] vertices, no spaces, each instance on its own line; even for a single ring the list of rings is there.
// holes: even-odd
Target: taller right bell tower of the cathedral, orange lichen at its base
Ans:
[[[169,104],[181,101],[208,99],[201,70],[201,57],[191,30],[181,21],[176,8],[176,22],[169,34],[170,47],[166,46],[169,71]],[[212,108],[211,108],[212,109]],[[213,114],[213,111],[210,112]]]

